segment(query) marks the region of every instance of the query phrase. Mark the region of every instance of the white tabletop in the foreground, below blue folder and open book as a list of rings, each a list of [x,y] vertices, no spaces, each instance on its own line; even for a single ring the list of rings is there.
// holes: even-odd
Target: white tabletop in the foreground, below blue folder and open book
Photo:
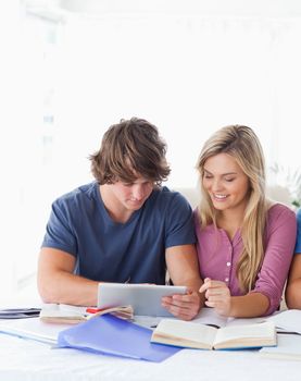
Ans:
[[[55,349],[48,344],[0,334],[0,380],[300,381],[301,361],[261,358],[258,351],[184,349],[155,364]]]

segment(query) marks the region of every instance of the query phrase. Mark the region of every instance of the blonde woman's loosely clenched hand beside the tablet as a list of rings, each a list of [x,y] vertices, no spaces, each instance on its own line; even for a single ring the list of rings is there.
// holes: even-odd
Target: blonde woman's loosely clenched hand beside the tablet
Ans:
[[[205,293],[208,307],[214,308],[218,315],[230,316],[231,294],[226,283],[206,278],[199,292]]]

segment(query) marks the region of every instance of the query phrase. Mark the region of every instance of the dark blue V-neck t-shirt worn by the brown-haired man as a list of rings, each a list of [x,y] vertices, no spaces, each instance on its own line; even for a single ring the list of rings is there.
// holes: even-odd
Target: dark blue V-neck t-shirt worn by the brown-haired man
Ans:
[[[154,189],[117,223],[93,182],[52,204],[42,246],[76,257],[75,272],[95,281],[164,284],[165,249],[195,243],[192,211],[179,193]]]

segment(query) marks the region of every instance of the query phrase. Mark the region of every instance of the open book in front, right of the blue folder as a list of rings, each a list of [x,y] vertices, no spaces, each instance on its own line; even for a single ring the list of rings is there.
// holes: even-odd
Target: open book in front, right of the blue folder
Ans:
[[[163,319],[152,343],[199,349],[238,349],[277,345],[273,322],[215,328],[183,320]]]

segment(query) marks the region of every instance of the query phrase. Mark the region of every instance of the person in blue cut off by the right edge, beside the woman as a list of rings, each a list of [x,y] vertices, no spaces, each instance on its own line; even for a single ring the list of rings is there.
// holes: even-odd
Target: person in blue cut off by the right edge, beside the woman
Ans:
[[[299,209],[297,212],[297,243],[288,278],[286,302],[288,308],[301,309],[301,209]]]

